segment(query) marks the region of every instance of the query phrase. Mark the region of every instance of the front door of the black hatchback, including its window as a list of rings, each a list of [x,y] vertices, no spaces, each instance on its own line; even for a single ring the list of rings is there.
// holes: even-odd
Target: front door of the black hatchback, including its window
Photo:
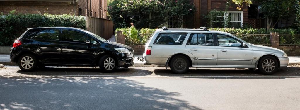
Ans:
[[[68,65],[91,65],[94,59],[94,47],[87,44],[91,38],[82,32],[61,29],[64,64]]]

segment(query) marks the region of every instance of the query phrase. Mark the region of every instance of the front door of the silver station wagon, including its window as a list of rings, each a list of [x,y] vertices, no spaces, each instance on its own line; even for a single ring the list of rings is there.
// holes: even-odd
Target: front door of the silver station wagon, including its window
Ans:
[[[216,34],[217,65],[250,66],[253,60],[251,47],[242,47],[243,42],[233,36]]]

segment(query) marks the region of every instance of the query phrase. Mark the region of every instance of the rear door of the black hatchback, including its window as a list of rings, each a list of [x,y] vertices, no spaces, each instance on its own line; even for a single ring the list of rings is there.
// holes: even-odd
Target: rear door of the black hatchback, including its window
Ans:
[[[33,36],[31,44],[44,64],[60,63],[62,59],[60,29],[40,30]]]

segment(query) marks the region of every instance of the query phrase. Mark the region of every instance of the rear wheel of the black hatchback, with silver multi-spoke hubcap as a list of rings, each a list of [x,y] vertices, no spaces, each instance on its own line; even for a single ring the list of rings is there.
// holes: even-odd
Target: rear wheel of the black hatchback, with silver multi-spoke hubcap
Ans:
[[[37,68],[38,61],[32,54],[24,54],[19,58],[18,65],[22,71],[30,72]]]

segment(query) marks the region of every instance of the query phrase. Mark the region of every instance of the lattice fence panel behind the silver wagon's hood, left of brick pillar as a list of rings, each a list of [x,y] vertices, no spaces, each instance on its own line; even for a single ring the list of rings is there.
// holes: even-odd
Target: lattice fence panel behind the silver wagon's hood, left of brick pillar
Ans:
[[[233,34],[251,44],[271,45],[269,34]]]

